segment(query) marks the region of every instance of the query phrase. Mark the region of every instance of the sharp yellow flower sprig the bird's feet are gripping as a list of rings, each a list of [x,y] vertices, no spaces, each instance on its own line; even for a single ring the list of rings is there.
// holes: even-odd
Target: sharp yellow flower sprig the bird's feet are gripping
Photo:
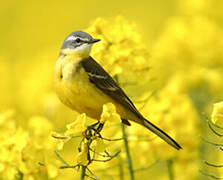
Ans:
[[[104,127],[104,124],[107,121],[111,120],[120,121],[121,119],[120,116],[116,113],[115,106],[111,103],[108,103],[104,104],[101,119],[98,122],[87,126],[86,115],[81,114],[73,123],[67,125],[67,130],[65,131],[64,135],[53,132],[52,137],[58,140],[58,150],[63,150],[64,143],[69,142],[72,138],[81,138],[80,144],[77,147],[78,154],[76,156],[76,165],[68,165],[68,163],[63,160],[62,157],[60,157],[57,153],[59,158],[62,159],[62,162],[65,164],[65,166],[62,166],[62,168],[79,169],[80,167],[84,167],[87,168],[87,170],[90,172],[90,175],[93,175],[91,170],[88,169],[88,166],[91,163],[93,163],[94,161],[107,162],[116,157],[120,153],[120,151],[111,155],[106,150],[107,145],[104,143],[104,141],[116,140],[106,139],[103,138],[101,135],[101,131]],[[90,175],[86,174],[86,176]]]

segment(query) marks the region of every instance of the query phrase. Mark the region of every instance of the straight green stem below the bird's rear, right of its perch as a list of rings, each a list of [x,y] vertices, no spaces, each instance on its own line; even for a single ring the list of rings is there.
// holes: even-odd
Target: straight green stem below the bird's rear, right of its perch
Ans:
[[[125,125],[123,123],[121,123],[121,129],[122,129],[122,136],[123,136],[123,140],[124,140],[126,162],[128,165],[129,177],[130,177],[130,180],[134,180],[135,178],[134,178],[134,171],[133,171],[133,167],[132,167],[132,160],[131,160],[131,156],[130,156],[130,152],[129,152],[128,137],[127,137],[127,133],[125,130]]]

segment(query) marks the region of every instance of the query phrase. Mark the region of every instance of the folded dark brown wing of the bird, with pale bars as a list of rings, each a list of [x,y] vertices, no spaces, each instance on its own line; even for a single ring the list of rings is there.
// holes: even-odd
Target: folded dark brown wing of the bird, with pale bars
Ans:
[[[102,92],[116,100],[116,102],[132,111],[137,117],[143,119],[142,115],[139,113],[124,91],[92,57],[83,59],[81,64],[84,70],[87,72],[91,83],[93,83]]]

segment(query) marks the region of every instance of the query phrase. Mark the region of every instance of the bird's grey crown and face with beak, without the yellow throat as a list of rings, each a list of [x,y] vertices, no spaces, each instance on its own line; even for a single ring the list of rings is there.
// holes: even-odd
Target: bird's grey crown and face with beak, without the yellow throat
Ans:
[[[86,32],[75,31],[66,37],[61,49],[83,51],[90,49],[92,44],[98,41],[100,41],[100,39],[94,39],[91,35]]]

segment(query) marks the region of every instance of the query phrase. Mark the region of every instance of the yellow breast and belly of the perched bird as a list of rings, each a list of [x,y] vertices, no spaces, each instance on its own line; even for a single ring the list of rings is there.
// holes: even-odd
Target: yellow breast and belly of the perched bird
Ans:
[[[73,63],[56,65],[55,88],[58,97],[65,105],[79,113],[86,113],[89,117],[100,119],[103,104],[111,102],[115,104],[121,117],[136,119],[132,112],[91,83],[83,68],[76,72],[76,66]]]

